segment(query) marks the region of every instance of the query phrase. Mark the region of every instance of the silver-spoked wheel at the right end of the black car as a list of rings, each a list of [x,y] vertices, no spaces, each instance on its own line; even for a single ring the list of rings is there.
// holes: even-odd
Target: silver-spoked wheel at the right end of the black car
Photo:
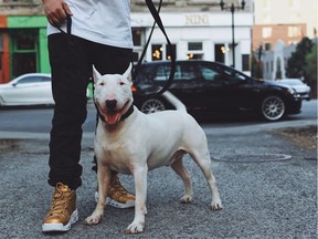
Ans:
[[[285,103],[277,95],[269,95],[263,98],[261,104],[261,113],[266,121],[278,121],[285,114]]]

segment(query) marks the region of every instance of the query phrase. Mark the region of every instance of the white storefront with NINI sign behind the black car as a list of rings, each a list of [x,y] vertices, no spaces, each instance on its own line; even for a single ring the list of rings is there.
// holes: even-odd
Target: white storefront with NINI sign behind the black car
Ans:
[[[173,44],[178,60],[202,59],[218,61],[226,65],[232,59],[232,21],[231,13],[160,13],[166,31]],[[142,45],[150,34],[153,20],[149,13],[131,14],[135,44],[135,61],[139,58]],[[235,14],[235,69],[250,74],[251,13]],[[146,61],[169,60],[170,54],[166,39],[157,28],[145,56]]]

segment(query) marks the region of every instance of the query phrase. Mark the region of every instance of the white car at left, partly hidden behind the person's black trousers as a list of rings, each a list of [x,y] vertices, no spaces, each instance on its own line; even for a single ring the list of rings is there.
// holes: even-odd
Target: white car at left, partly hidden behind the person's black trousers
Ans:
[[[87,98],[89,89],[87,89]],[[53,105],[51,74],[28,73],[0,84],[0,106]]]

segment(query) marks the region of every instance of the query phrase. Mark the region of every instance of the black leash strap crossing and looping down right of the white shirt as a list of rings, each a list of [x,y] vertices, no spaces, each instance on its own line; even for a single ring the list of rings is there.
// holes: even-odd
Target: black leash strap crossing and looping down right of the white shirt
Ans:
[[[147,48],[148,48],[148,45],[149,45],[150,39],[151,39],[151,37],[152,37],[152,32],[153,32],[153,30],[155,30],[155,25],[156,25],[156,23],[157,23],[157,25],[159,27],[159,29],[160,29],[161,32],[163,33],[163,35],[165,35],[165,38],[166,38],[166,40],[167,40],[169,50],[170,50],[170,55],[171,55],[170,74],[169,74],[169,79],[166,81],[166,84],[163,85],[162,89],[160,89],[158,92],[142,93],[142,95],[147,95],[147,96],[159,96],[159,95],[163,94],[163,92],[166,92],[166,91],[170,87],[170,85],[171,85],[171,83],[172,83],[172,81],[173,81],[174,72],[176,72],[176,54],[174,54],[174,51],[173,51],[173,49],[172,49],[172,44],[171,44],[171,42],[170,42],[170,40],[169,40],[169,38],[168,38],[168,34],[167,34],[167,32],[166,32],[166,30],[165,30],[165,27],[163,27],[163,24],[162,24],[161,18],[160,18],[160,15],[159,15],[159,12],[160,12],[160,9],[161,9],[161,6],[162,6],[162,0],[160,0],[160,2],[159,2],[158,10],[155,8],[152,0],[145,0],[145,1],[146,1],[147,6],[148,6],[148,9],[150,10],[150,13],[152,14],[152,18],[155,19],[155,22],[153,22],[151,32],[150,32],[150,34],[149,34],[148,41],[147,41],[147,43],[146,43],[146,45],[145,45],[145,49],[144,49],[144,51],[142,51],[142,54],[141,54],[141,56],[140,56],[140,59],[139,59],[139,61],[138,61],[138,63],[137,63],[137,65],[136,65],[136,69],[135,69],[135,71],[134,71],[134,73],[132,73],[132,79],[135,80],[136,76],[137,76],[137,74],[138,74],[138,71],[139,71],[139,69],[140,69],[141,62],[142,62],[144,56],[145,56],[145,54],[146,54]],[[137,93],[137,94],[138,94],[138,93]]]

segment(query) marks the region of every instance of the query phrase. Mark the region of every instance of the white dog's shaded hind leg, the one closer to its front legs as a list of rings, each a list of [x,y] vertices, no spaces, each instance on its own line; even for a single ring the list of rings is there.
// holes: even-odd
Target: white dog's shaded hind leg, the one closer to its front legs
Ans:
[[[182,178],[184,188],[186,188],[186,195],[180,199],[182,204],[191,204],[193,201],[193,190],[192,190],[192,183],[189,175],[189,172],[183,165],[183,155],[179,156],[172,164],[171,168]]]

